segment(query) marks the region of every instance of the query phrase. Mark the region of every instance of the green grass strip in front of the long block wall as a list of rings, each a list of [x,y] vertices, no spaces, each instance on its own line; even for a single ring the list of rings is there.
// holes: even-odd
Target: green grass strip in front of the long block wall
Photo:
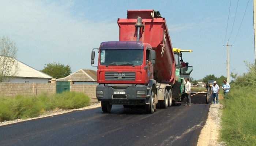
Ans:
[[[84,93],[63,92],[61,94],[37,96],[0,97],[0,122],[14,119],[34,118],[55,109],[75,109],[90,105]]]

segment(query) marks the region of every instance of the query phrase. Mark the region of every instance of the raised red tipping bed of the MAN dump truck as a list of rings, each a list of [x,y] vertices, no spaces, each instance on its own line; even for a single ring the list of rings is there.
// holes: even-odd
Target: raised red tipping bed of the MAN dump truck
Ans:
[[[150,44],[156,53],[154,80],[172,85],[175,82],[174,53],[165,18],[158,11],[128,10],[126,19],[117,20],[119,41],[136,41],[138,17],[142,18],[144,25],[140,29],[139,41]]]

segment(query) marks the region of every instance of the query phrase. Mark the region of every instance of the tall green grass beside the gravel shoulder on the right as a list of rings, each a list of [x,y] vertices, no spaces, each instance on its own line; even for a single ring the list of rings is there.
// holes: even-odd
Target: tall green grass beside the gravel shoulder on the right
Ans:
[[[220,138],[229,146],[256,146],[256,95],[253,87],[233,86],[224,97]]]

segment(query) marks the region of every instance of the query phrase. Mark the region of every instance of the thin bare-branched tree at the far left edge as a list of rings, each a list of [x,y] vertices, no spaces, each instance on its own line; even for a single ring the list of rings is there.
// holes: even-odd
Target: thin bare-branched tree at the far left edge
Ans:
[[[18,47],[9,37],[0,39],[0,82],[9,82],[19,72]]]

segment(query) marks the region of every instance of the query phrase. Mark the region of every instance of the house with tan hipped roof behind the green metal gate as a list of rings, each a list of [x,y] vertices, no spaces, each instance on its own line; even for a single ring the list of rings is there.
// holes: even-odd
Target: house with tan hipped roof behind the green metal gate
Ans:
[[[58,78],[56,81],[72,80],[73,84],[98,84],[97,72],[90,69],[79,69],[78,71],[64,78]]]

